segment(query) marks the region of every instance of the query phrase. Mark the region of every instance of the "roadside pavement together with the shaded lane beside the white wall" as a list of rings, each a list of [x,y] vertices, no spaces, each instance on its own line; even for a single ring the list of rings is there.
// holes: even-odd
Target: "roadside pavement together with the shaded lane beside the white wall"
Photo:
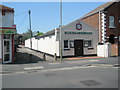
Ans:
[[[31,56],[32,54],[32,56]],[[54,61],[53,57],[46,56],[46,61],[43,61],[42,54],[40,52],[30,50],[24,46],[18,48],[15,63],[12,64],[1,64],[0,74],[13,74],[13,73],[23,73],[30,70],[46,70],[46,69],[56,69],[56,68],[67,68],[76,66],[110,66],[119,67],[120,57],[97,57],[97,56],[86,56],[86,57],[71,57],[63,58],[60,62],[59,59]]]

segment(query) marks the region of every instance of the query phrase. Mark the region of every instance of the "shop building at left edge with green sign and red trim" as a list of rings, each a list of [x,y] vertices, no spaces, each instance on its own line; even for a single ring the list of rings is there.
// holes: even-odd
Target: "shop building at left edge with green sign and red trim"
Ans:
[[[0,63],[14,60],[14,9],[0,5]]]

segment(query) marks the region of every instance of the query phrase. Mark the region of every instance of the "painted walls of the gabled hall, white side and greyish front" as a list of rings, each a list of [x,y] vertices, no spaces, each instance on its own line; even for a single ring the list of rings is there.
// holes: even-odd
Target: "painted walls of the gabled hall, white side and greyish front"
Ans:
[[[94,49],[88,49],[84,48],[84,55],[88,54],[97,54],[97,44],[98,44],[98,30],[88,26],[82,21],[79,21],[82,24],[82,30],[78,31],[76,30],[76,24],[78,21],[74,21],[62,28],[62,48],[63,48],[63,56],[74,56],[74,48],[70,48],[70,50],[64,50],[64,40],[76,40],[76,39],[82,39],[82,40],[92,40],[92,48]],[[92,34],[64,34],[65,31],[75,31],[75,32],[92,32]],[[44,38],[40,38],[39,40],[32,38],[32,49],[38,50],[41,52],[45,52],[51,55],[54,55],[54,53],[57,54],[57,56],[60,56],[59,51],[59,32],[55,30],[55,35],[52,35],[51,37],[47,36]],[[30,39],[25,41],[25,46],[30,48]]]

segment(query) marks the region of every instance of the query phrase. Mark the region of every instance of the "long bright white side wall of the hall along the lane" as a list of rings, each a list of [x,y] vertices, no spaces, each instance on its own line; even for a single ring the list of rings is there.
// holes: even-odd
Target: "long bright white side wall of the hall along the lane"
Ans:
[[[30,48],[30,39],[25,41],[25,47]],[[40,39],[32,38],[32,49],[51,55],[56,53],[59,56],[59,41],[56,41],[55,35]]]

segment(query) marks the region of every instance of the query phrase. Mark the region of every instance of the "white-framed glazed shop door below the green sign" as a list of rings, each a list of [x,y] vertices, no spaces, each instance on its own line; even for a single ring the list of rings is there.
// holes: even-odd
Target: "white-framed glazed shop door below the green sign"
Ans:
[[[3,39],[3,63],[12,62],[12,44],[10,38]]]

